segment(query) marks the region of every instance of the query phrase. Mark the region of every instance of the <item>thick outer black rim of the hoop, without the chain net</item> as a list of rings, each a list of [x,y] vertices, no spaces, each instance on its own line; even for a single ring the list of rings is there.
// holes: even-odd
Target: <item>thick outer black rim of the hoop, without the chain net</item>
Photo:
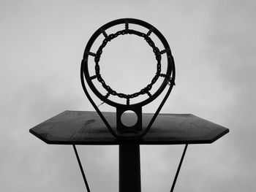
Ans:
[[[161,53],[162,54],[166,53],[166,55],[167,55],[167,72],[165,74],[165,77],[164,77],[165,79],[163,80],[162,85],[160,85],[158,90],[155,91],[155,93],[152,96],[149,96],[148,99],[145,99],[145,100],[140,101],[135,104],[119,104],[119,103],[116,103],[115,101],[111,101],[110,99],[108,99],[108,97],[103,96],[102,93],[100,93],[97,90],[97,88],[95,88],[94,83],[92,82],[92,78],[89,74],[89,67],[88,67],[89,55],[94,54],[94,53],[90,52],[91,46],[94,44],[94,41],[97,39],[97,37],[99,37],[99,35],[101,35],[101,34],[103,34],[106,37],[105,30],[107,30],[108,28],[111,28],[113,26],[116,26],[118,24],[125,24],[125,27],[127,28],[127,25],[128,25],[127,23],[137,24],[138,26],[143,26],[145,28],[148,28],[148,35],[150,35],[151,33],[154,33],[159,38],[159,40],[162,42],[162,45],[165,47],[165,50],[162,50]],[[154,28],[154,26],[151,26],[151,24],[146,23],[143,20],[138,20],[138,19],[133,19],[133,18],[123,18],[123,19],[113,20],[109,23],[106,23],[104,26],[102,26],[97,31],[95,31],[94,34],[89,39],[89,42],[86,45],[86,49],[83,54],[82,65],[83,65],[83,68],[81,68],[81,69],[83,69],[83,74],[86,77],[86,82],[88,83],[89,87],[91,88],[91,91],[93,91],[94,94],[99,99],[101,99],[102,101],[104,101],[107,104],[110,104],[113,107],[142,107],[142,106],[150,103],[154,99],[156,99],[157,96],[159,96],[160,93],[162,93],[162,91],[164,91],[168,82],[174,82],[174,79],[175,79],[175,67],[174,67],[174,62],[173,62],[173,56],[171,54],[170,47],[169,47],[165,37],[163,37],[163,35],[157,30],[157,28]],[[84,77],[82,77],[81,80],[84,81]],[[83,84],[83,82],[82,82],[82,84]],[[173,86],[173,83],[170,83],[169,85]]]

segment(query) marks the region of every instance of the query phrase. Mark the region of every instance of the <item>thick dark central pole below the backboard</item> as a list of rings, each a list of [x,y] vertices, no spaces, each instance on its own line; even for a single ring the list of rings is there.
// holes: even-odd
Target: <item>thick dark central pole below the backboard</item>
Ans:
[[[119,192],[140,192],[140,145],[119,145]]]

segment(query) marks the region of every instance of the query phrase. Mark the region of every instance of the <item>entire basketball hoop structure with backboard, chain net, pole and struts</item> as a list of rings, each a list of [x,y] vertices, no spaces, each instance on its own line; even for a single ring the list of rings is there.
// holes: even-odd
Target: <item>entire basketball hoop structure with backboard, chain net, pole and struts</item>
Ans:
[[[136,31],[129,24],[146,28],[147,32]],[[117,25],[122,26],[122,29],[108,34],[108,29]],[[162,43],[163,50],[159,50],[151,39],[152,33]],[[131,94],[113,90],[102,78],[99,64],[104,47],[108,42],[122,35],[135,35],[143,38],[153,50],[157,61],[157,72],[152,77],[151,82],[148,82],[146,87],[141,88],[140,91]],[[104,39],[97,48],[96,53],[93,53],[91,47],[99,36],[103,36]],[[167,58],[165,72],[162,72],[161,61],[163,56]],[[93,74],[89,72],[89,57],[94,58]],[[83,171],[75,145],[119,145],[119,192],[141,192],[140,145],[185,145],[170,188],[170,192],[173,192],[187,146],[189,144],[212,143],[229,132],[228,128],[192,114],[159,114],[172,91],[173,85],[175,85],[175,66],[173,55],[165,37],[162,36],[157,28],[143,20],[118,19],[99,28],[86,45],[80,68],[80,79],[83,91],[96,112],[66,110],[34,126],[29,131],[48,144],[73,146],[88,192],[90,189],[86,174]],[[159,79],[162,79],[162,83],[157,88],[157,91],[153,93],[152,87],[157,84],[156,82]],[[96,81],[105,90],[105,94],[95,87],[94,83]],[[86,84],[99,99],[112,107],[116,107],[116,112],[101,112],[93,99],[91,99]],[[159,107],[157,107],[156,112],[154,114],[142,113],[142,107],[157,99],[166,88],[165,96]],[[110,96],[124,99],[125,104],[113,101]],[[146,99],[137,103],[130,102],[140,96],[146,96]],[[129,111],[132,113],[129,113]]]

